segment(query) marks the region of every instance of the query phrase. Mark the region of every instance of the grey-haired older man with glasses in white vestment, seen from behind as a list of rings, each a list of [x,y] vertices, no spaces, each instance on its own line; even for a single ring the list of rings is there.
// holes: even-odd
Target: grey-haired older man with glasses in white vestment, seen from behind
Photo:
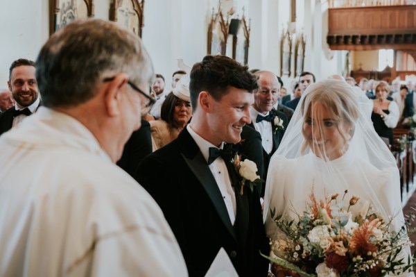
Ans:
[[[44,106],[0,137],[0,276],[187,276],[162,210],[114,165],[153,76],[139,37],[113,23],[49,37]]]

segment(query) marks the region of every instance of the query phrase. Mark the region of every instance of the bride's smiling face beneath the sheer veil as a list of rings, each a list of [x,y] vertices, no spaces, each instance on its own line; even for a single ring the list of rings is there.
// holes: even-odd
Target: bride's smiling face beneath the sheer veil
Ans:
[[[304,117],[302,131],[315,156],[334,160],[343,156],[347,149],[347,126],[321,103],[312,103]]]

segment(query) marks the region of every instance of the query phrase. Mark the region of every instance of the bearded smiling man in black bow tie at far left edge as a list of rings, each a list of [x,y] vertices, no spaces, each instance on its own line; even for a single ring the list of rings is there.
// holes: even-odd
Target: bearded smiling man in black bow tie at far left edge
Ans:
[[[9,69],[8,87],[15,99],[15,108],[0,114],[0,135],[15,128],[23,119],[36,112],[42,104],[35,77],[35,62],[19,59]]]

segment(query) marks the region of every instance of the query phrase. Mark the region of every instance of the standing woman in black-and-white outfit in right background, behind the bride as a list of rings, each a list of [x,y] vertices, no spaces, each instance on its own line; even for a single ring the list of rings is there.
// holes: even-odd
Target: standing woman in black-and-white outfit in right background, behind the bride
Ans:
[[[376,85],[376,99],[373,102],[371,119],[376,133],[380,137],[387,137],[390,144],[393,144],[393,128],[399,121],[399,107],[395,101],[387,99],[390,87],[387,82],[381,81]]]

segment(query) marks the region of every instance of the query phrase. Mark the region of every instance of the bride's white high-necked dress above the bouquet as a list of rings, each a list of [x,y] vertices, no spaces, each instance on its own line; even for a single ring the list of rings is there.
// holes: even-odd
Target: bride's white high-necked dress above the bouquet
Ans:
[[[331,174],[325,172],[329,170]],[[277,231],[270,209],[275,209],[275,215],[296,219],[306,210],[306,203],[311,202],[309,195],[312,191],[320,200],[336,193],[341,199],[348,190],[345,199],[349,201],[352,196],[360,198],[354,210],[360,210],[365,201],[369,201],[374,212],[384,219],[393,218],[396,228],[404,224],[400,190],[395,187],[395,180],[399,178],[397,168],[381,171],[356,158],[352,151],[347,151],[340,158],[327,162],[313,153],[294,159],[275,156],[270,162],[269,172],[263,212],[269,237],[273,238]],[[371,187],[365,185],[369,183]]]

